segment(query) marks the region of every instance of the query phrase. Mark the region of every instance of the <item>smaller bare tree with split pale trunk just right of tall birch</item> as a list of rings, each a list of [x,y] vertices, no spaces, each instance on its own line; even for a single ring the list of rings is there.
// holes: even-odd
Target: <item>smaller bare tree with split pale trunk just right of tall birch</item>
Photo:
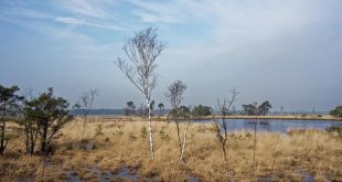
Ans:
[[[171,116],[173,117],[175,126],[177,126],[177,135],[178,135],[180,153],[181,153],[180,160],[183,160],[183,161],[184,161],[183,152],[184,152],[185,141],[186,141],[188,125],[185,125],[184,139],[182,143],[181,135],[180,135],[180,126],[179,126],[179,117],[180,117],[179,108],[183,100],[183,94],[185,89],[186,89],[186,85],[182,81],[175,81],[168,87],[168,92],[164,94],[172,107]]]

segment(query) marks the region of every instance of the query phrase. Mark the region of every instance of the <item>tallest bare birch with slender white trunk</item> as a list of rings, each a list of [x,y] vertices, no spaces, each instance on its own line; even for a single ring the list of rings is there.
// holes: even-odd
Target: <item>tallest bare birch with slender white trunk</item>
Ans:
[[[167,44],[159,41],[157,29],[148,28],[136,33],[131,39],[126,40],[124,51],[127,60],[118,57],[116,64],[124,72],[126,77],[145,95],[150,133],[151,158],[154,159],[153,136],[151,124],[150,101],[152,90],[157,86],[158,75],[156,60],[165,49]]]

